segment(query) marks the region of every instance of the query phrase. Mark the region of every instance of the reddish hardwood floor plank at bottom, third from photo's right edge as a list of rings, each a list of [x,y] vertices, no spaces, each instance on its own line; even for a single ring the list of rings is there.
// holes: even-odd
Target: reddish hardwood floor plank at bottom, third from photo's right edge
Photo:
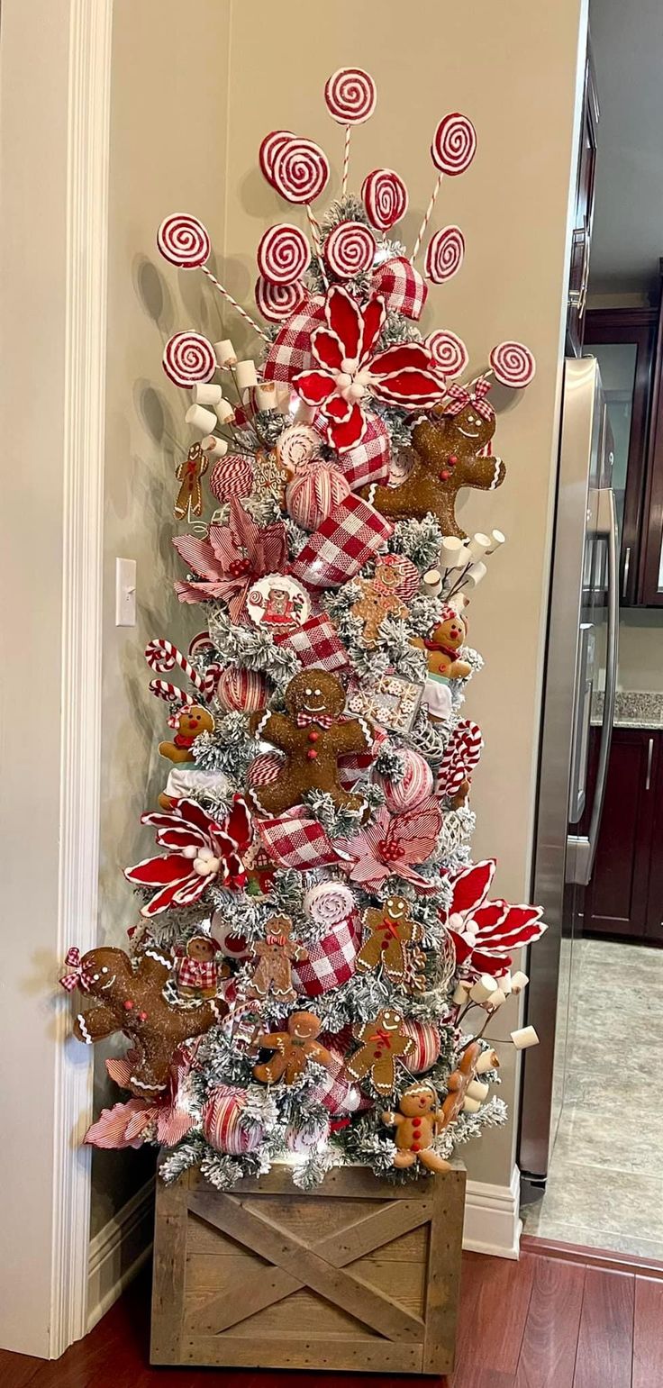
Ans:
[[[571,1388],[585,1269],[537,1258],[515,1388]]]

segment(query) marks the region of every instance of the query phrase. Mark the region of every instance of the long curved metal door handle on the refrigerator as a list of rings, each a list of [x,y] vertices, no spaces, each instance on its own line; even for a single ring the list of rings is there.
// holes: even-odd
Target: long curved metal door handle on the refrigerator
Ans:
[[[587,887],[594,869],[596,844],[603,813],[603,801],[610,759],[612,729],[614,722],[614,700],[617,694],[619,657],[619,570],[617,570],[617,511],[612,487],[596,491],[598,523],[596,534],[608,540],[608,652],[606,687],[603,698],[603,720],[601,725],[599,762],[594,790],[592,813],[587,837],[567,838],[567,881]]]

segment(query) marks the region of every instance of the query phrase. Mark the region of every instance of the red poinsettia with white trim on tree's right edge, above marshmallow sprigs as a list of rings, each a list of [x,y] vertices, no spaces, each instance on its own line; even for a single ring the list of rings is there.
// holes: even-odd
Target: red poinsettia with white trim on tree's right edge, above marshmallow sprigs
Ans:
[[[505,973],[510,951],[540,940],[548,929],[541,906],[509,906],[487,901],[495,876],[495,859],[470,863],[452,879],[447,929],[454,940],[456,963],[463,973]]]

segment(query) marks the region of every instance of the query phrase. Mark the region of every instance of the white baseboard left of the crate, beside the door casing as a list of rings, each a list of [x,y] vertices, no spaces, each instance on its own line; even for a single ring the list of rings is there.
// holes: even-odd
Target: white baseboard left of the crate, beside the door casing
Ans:
[[[87,1331],[105,1316],[150,1256],[154,1233],[154,1176],[90,1239]]]

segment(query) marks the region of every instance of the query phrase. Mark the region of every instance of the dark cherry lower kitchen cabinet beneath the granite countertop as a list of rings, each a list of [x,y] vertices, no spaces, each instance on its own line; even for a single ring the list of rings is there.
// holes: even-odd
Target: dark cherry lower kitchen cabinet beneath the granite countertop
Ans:
[[[592,729],[591,784],[598,743]],[[663,731],[616,727],[583,930],[663,944],[662,917]]]

